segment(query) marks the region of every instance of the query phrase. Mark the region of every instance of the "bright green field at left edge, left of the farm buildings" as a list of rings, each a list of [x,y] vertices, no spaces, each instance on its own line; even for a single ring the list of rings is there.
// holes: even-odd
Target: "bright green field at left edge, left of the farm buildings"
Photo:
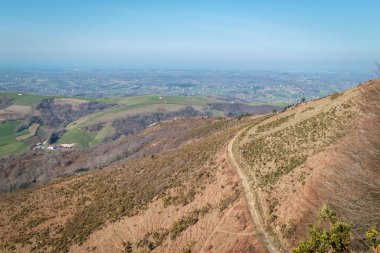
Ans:
[[[17,141],[19,135],[24,135],[27,131],[14,133],[15,128],[20,124],[19,121],[11,120],[0,124],[0,156],[13,153],[21,153],[30,149],[30,146]]]

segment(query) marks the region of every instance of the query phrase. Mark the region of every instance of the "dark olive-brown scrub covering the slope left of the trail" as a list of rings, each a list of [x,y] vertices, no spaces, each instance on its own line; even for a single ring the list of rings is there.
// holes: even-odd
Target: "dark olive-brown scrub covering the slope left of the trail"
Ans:
[[[106,223],[139,215],[154,200],[162,199],[166,206],[186,206],[215,181],[215,155],[243,123],[237,119],[218,122],[222,122],[218,128],[207,129],[207,136],[202,137],[204,131],[198,131],[199,140],[191,134],[195,140],[174,150],[3,197],[0,249],[65,252],[72,245],[84,243]],[[226,200],[224,208],[235,199]],[[211,207],[194,209],[165,228],[166,232],[142,238],[140,246],[152,250],[167,236],[175,240]],[[136,245],[125,242],[123,247],[130,252]]]

